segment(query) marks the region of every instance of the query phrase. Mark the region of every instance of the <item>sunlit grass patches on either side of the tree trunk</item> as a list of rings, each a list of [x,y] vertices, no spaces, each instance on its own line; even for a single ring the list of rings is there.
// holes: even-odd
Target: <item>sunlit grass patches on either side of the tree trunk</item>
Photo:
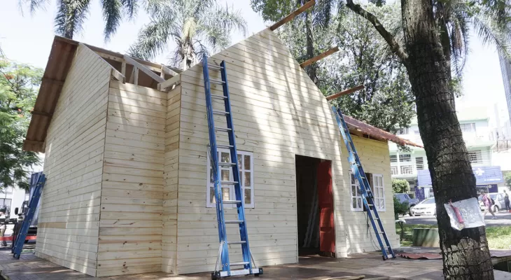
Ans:
[[[412,229],[437,228],[436,225],[402,225],[401,246],[412,246]],[[400,235],[401,228],[395,225],[395,232]],[[486,238],[491,249],[507,249],[511,247],[511,226],[496,226],[486,228]]]

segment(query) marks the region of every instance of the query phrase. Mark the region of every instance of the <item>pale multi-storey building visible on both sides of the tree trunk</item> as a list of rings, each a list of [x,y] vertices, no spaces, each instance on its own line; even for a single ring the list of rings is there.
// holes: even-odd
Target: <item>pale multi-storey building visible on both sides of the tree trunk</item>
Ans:
[[[499,188],[502,190],[505,188],[503,174],[500,165],[493,162],[496,134],[489,125],[488,114],[485,110],[464,110],[457,115],[477,180],[477,188],[489,193],[496,193]],[[422,144],[416,118],[412,120],[409,128],[401,129],[398,134],[402,138]],[[411,147],[409,151],[402,151],[391,143],[389,143],[389,150],[392,178],[407,180],[410,184],[409,194],[419,199],[433,196],[426,151],[416,147]]]

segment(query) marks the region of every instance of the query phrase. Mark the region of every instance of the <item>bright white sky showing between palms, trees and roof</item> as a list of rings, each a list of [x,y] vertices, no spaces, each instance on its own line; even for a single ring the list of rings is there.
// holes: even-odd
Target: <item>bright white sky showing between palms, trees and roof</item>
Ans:
[[[237,10],[248,22],[247,36],[254,34],[267,25],[260,15],[255,13],[250,0],[219,0]],[[31,15],[25,7],[20,10],[18,0],[0,0],[0,46],[6,56],[16,62],[33,64],[44,68],[54,36],[53,18],[56,12],[55,0],[48,0],[45,10],[38,10]],[[92,1],[90,15],[84,23],[84,30],[74,37],[76,41],[95,45],[99,48],[125,53],[137,38],[139,29],[149,22],[148,15],[140,11],[135,20],[123,22],[116,35],[109,42],[103,38],[103,25],[99,0]],[[463,73],[463,97],[456,100],[456,109],[486,110],[495,121],[495,109],[499,112],[500,123],[509,120],[506,111],[504,86],[500,73],[500,64],[496,49],[484,46],[477,36],[470,39],[470,56]],[[241,41],[245,36],[234,32],[232,43]],[[172,50],[173,47],[170,47]],[[160,55],[154,62],[168,64],[167,55]]]

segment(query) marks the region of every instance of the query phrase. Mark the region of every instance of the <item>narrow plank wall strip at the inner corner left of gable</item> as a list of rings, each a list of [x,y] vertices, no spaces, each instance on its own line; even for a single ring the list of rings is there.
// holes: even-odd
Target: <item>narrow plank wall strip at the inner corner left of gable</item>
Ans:
[[[181,79],[180,76],[176,78]],[[179,119],[181,86],[167,95],[167,123],[165,126],[165,187],[163,190],[162,271],[175,273],[177,260],[177,209],[179,173]]]

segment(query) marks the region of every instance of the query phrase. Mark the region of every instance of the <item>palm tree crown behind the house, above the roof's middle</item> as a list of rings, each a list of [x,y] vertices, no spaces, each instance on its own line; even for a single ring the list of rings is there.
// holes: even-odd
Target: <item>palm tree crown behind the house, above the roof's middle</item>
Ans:
[[[220,50],[230,44],[233,29],[246,34],[246,21],[239,11],[220,6],[214,0],[150,0],[151,22],[139,31],[139,38],[128,52],[133,57],[151,59],[176,43],[173,66],[183,70],[209,55],[209,48]]]

